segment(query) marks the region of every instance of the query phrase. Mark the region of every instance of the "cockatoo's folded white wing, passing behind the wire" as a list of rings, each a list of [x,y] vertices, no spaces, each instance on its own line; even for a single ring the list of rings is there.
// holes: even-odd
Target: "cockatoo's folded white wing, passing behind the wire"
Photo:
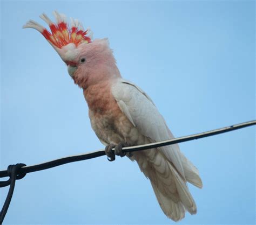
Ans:
[[[112,94],[119,108],[130,122],[146,137],[153,142],[173,138],[167,128],[163,116],[149,96],[133,83],[120,79],[112,86]],[[184,168],[181,163],[179,146],[169,145],[159,148],[185,178]]]

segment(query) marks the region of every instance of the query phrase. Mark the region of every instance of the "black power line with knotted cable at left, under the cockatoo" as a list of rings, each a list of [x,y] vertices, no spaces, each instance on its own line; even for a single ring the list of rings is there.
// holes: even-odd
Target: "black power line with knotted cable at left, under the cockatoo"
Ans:
[[[154,147],[172,145],[172,144],[177,144],[177,143],[181,143],[181,142],[188,142],[188,141],[194,140],[194,139],[200,139],[200,138],[209,137],[209,136],[213,136],[213,135],[219,135],[220,133],[230,132],[230,131],[238,130],[241,128],[246,128],[247,126],[252,126],[252,125],[256,125],[256,120],[248,121],[245,123],[239,123],[239,124],[235,124],[232,126],[226,126],[225,128],[220,128],[220,129],[216,129],[216,130],[197,133],[195,135],[188,135],[188,136],[184,136],[184,137],[173,138],[170,140],[164,140],[162,142],[137,145],[137,146],[132,146],[132,147],[123,147],[122,150],[123,150],[123,152],[142,151],[142,150],[152,149]],[[112,151],[113,151],[113,149],[112,149]],[[5,186],[10,185],[8,196],[6,197],[3,209],[1,210],[1,213],[0,213],[0,224],[2,224],[5,214],[10,205],[12,193],[14,192],[15,181],[17,179],[22,179],[23,177],[25,177],[25,175],[27,173],[46,170],[46,169],[60,166],[63,164],[72,163],[75,161],[86,160],[86,159],[92,159],[92,158],[96,158],[96,157],[100,157],[100,156],[104,156],[104,155],[105,155],[105,150],[98,150],[98,151],[93,151],[93,152],[87,152],[84,154],[78,154],[75,156],[59,158],[59,159],[47,161],[45,163],[36,164],[36,165],[32,165],[32,166],[26,166],[25,164],[10,165],[10,166],[8,166],[7,170],[0,171],[0,178],[10,177],[9,180],[0,181],[0,187],[5,187]]]

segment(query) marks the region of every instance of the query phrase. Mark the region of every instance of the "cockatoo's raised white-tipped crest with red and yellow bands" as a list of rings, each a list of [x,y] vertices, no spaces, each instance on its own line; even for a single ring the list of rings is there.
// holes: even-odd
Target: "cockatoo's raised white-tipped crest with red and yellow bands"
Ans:
[[[39,16],[49,25],[51,32],[33,20],[29,20],[23,28],[36,29],[43,34],[53,47],[57,48],[62,48],[70,43],[77,47],[80,44],[91,42],[92,32],[89,27],[84,31],[83,25],[77,19],[70,18],[69,26],[65,15],[59,14],[57,11],[53,11],[53,15],[56,18],[56,23],[53,23],[45,13]]]

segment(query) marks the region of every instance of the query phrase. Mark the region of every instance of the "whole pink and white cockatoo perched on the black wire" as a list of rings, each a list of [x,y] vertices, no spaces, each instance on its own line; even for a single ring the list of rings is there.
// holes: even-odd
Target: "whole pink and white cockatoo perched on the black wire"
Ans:
[[[51,32],[33,20],[23,28],[41,32],[68,66],[73,81],[83,89],[89,106],[92,129],[106,145],[109,160],[124,156],[123,146],[141,145],[172,139],[173,135],[150,97],[134,83],[124,80],[116,65],[109,41],[95,39],[84,31],[77,19],[66,22],[64,15],[53,12],[57,23],[44,13],[40,17]],[[112,148],[114,147],[114,154]],[[197,168],[180,152],[177,144],[137,151],[127,155],[136,160],[149,178],[161,209],[174,221],[185,211],[197,213],[197,206],[186,182],[203,186]]]

